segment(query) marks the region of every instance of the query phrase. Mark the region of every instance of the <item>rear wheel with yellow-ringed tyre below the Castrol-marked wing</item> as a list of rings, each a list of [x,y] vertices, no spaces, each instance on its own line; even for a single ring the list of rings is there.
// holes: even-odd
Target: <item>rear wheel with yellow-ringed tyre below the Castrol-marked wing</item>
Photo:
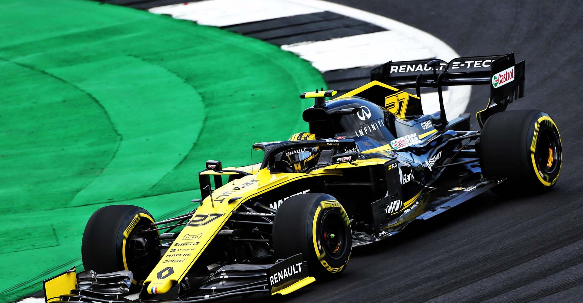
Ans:
[[[540,110],[495,113],[484,124],[479,149],[484,177],[507,179],[494,193],[540,193],[559,179],[561,137],[553,119]]]

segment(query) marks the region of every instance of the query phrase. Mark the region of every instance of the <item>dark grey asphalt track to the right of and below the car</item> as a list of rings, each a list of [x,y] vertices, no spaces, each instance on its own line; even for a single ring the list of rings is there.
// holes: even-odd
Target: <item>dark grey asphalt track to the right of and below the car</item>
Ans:
[[[583,301],[580,3],[333,2],[427,31],[461,56],[515,52],[526,60],[525,98],[508,109],[550,113],[561,132],[564,165],[550,193],[472,199],[387,241],[353,249],[342,277],[308,286],[286,302]],[[482,109],[487,97],[487,88],[473,89],[467,112]]]

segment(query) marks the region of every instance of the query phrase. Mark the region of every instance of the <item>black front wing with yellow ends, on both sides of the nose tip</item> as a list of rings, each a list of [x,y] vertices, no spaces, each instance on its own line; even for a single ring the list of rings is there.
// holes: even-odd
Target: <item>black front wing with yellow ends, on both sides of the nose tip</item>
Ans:
[[[136,302],[129,293],[132,272],[122,270],[114,273],[81,272],[75,268],[43,281],[47,303],[125,303]],[[192,303],[212,301],[237,295],[269,293],[289,294],[314,282],[309,276],[307,261],[301,254],[279,259],[275,264],[233,264],[222,266],[213,275],[204,279],[196,288],[181,298],[153,297],[148,301],[165,303]],[[50,294],[50,295],[49,295]]]

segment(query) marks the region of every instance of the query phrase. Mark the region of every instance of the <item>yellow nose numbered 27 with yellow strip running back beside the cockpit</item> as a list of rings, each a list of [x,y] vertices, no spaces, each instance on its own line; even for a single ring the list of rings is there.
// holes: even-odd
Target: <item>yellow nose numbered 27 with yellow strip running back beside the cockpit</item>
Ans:
[[[192,216],[187,226],[184,227],[174,243],[168,248],[166,254],[161,258],[160,262],[150,272],[150,275],[145,280],[145,283],[150,283],[147,289],[148,293],[166,293],[172,288],[174,283],[180,281],[209,245],[210,241],[223,227],[227,219],[230,218],[231,212],[236,210],[248,199],[292,181],[316,176],[342,176],[342,169],[380,165],[386,161],[387,159],[359,159],[353,161],[352,164],[339,163],[325,166],[312,170],[308,174],[272,174],[269,172],[269,169],[261,169],[252,176],[245,176],[241,179],[230,181],[224,186],[217,188],[212,193],[213,203],[210,201],[210,196],[202,201],[202,205],[196,209],[196,213]],[[205,173],[217,174],[214,171],[206,171],[202,174]],[[229,204],[229,199],[234,197],[241,198]]]

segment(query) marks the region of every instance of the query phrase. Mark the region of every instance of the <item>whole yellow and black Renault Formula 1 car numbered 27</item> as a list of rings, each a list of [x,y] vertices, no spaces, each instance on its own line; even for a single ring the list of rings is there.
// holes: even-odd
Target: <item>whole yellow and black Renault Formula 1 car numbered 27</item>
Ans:
[[[95,212],[83,234],[87,271],[45,280],[47,301],[285,295],[342,273],[352,247],[486,190],[548,190],[562,162],[556,124],[539,110],[505,111],[524,94],[524,66],[514,54],[388,62],[329,101],[335,91],[305,92],[315,99],[303,112],[309,132],[254,144],[265,153],[254,165],[207,161],[195,211],[164,220],[131,205]],[[442,87],[477,84],[489,85],[490,100],[477,113],[481,130],[470,130],[469,114],[445,116]],[[440,112],[424,115],[423,87],[437,88]]]

